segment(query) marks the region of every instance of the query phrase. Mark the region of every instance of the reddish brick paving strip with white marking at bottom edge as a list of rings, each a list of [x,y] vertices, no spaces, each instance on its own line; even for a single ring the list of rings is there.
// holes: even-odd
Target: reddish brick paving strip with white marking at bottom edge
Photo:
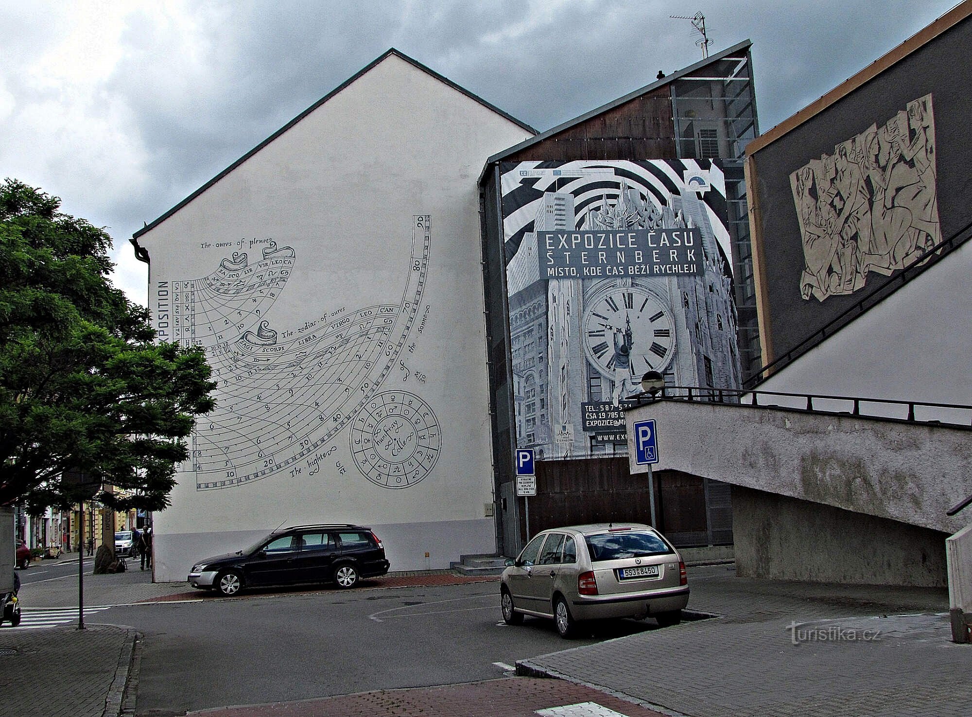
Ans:
[[[569,707],[571,709],[569,709]],[[560,709],[557,709],[560,708]],[[540,711],[542,710],[542,711]],[[190,712],[193,717],[662,717],[628,700],[563,680],[514,677],[412,690],[381,690],[323,700],[275,702]]]

